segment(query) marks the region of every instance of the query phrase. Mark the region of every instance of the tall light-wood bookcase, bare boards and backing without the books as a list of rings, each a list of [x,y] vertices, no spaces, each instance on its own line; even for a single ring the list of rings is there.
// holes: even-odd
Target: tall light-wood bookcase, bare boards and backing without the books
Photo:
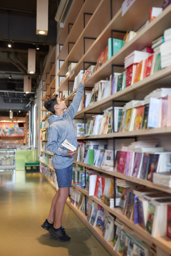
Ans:
[[[163,0],[136,0],[131,8],[126,12],[126,14],[122,17],[122,3],[123,1],[115,0],[113,3],[113,17],[111,19],[110,16],[110,1],[107,0],[73,0],[73,4],[70,8],[70,13],[64,24],[63,31],[59,36],[58,45],[63,45],[59,55],[57,56],[56,61],[64,60],[64,63],[57,71],[57,76],[64,76],[65,79],[60,84],[60,87],[57,89],[57,92],[61,92],[63,90],[68,90],[68,81],[74,80],[74,77],[78,74],[78,72],[83,69],[84,62],[97,62],[99,57],[99,53],[104,50],[108,44],[108,38],[111,37],[111,30],[117,29],[122,31],[133,30],[136,31],[139,29],[149,18],[149,10],[152,7],[161,7],[163,4]],[[79,6],[78,6],[79,5]],[[78,8],[75,8],[78,7]],[[77,9],[77,10],[76,10]],[[79,9],[79,11],[78,11]],[[86,20],[85,27],[83,28],[83,14],[84,13],[92,13],[93,15],[89,15]],[[136,14],[136,16],[134,15]],[[106,79],[112,73],[112,65],[124,65],[124,59],[127,55],[129,55],[134,50],[142,50],[146,46],[151,46],[151,43],[157,37],[163,35],[165,29],[171,26],[170,23],[170,15],[171,15],[171,5],[168,6],[158,17],[156,17],[152,22],[150,22],[145,28],[143,28],[131,41],[129,41],[124,47],[122,47],[112,58],[106,61],[104,65],[102,65],[97,71],[95,71],[85,83],[86,88],[93,88],[94,84],[101,79]],[[103,19],[102,19],[103,17]],[[72,23],[71,29],[68,33],[68,23]],[[114,38],[123,38],[124,34],[114,33]],[[84,37],[95,38],[94,40],[90,40],[87,42],[85,46],[85,52],[83,51],[83,40]],[[68,43],[74,43],[69,44]],[[70,48],[68,50],[68,48]],[[52,54],[53,55],[53,54]],[[54,56],[54,55],[53,55]],[[51,59],[52,56],[51,56]],[[69,62],[77,62],[74,67],[74,74],[72,77],[66,75],[68,69]],[[51,75],[55,70],[55,65],[51,69],[47,65],[47,70],[49,71],[49,75],[46,78],[44,88],[42,90],[47,89],[45,95],[41,99],[43,101],[47,95],[49,95],[50,87],[54,86],[55,80],[50,80]],[[90,64],[91,65],[91,64]],[[90,66],[89,65],[89,66]],[[85,69],[88,68],[88,64],[86,64]],[[114,67],[114,72],[123,72],[123,67]],[[45,72],[44,72],[45,73]],[[144,97],[150,93],[151,91],[161,88],[161,87],[170,87],[170,79],[171,79],[171,66],[166,67],[164,69],[159,70],[158,72],[144,78],[137,83],[132,84],[132,86],[125,88],[124,90],[117,92],[114,95],[107,97],[106,99],[96,102],[93,106],[90,106],[86,109],[79,111],[75,118],[83,118],[85,113],[103,113],[105,109],[112,106],[112,101],[131,101],[131,100],[142,100]],[[47,85],[46,85],[47,84]],[[49,85],[48,85],[49,84]],[[71,89],[71,86],[69,90]],[[73,99],[73,95],[77,90],[74,90],[66,99],[65,102],[68,105],[68,101]],[[51,90],[52,93],[52,90]],[[122,106],[124,103],[122,103]],[[121,104],[118,106],[121,106]],[[44,108],[41,109],[45,111]],[[51,115],[48,113],[45,117],[42,118],[42,121],[46,120]],[[90,117],[91,115],[89,115]],[[103,135],[92,135],[88,137],[77,137],[78,140],[85,139],[113,139],[113,138],[122,138],[122,137],[137,137],[137,136],[153,136],[153,135],[170,135],[171,127],[161,127],[161,128],[152,128],[145,129],[139,131],[130,131],[130,132],[118,132],[111,134],[103,134]],[[46,151],[41,150],[42,153],[47,153]],[[50,154],[53,155],[53,154]],[[44,162],[42,162],[45,164]],[[97,172],[101,172],[112,177],[121,178],[124,180],[132,181],[134,183],[147,186],[153,189],[157,189],[160,191],[165,191],[171,194],[171,189],[163,186],[155,185],[147,180],[138,179],[135,177],[125,176],[123,174],[114,172],[114,171],[106,171],[98,166],[88,165],[81,162],[75,162],[85,167],[90,167]],[[45,164],[49,168],[49,165]],[[51,168],[52,169],[52,168]],[[54,170],[53,170],[54,171]],[[74,187],[76,187],[73,184]],[[82,190],[80,187],[76,187],[81,193],[88,195],[88,192]],[[128,227],[133,229],[134,233],[142,238],[146,243],[148,243],[151,248],[153,248],[153,244],[161,247],[164,251],[171,253],[171,240],[167,237],[151,237],[145,230],[143,230],[139,225],[134,225],[133,221],[129,220],[125,215],[122,214],[121,210],[118,208],[109,208],[105,204],[102,203],[100,199],[97,197],[92,197],[92,199],[102,205],[106,210],[112,213],[114,216],[118,217],[121,221],[123,221]],[[75,206],[70,204],[69,200],[67,200],[67,204],[69,207],[75,212],[75,214],[81,219],[81,221],[92,231],[92,233],[101,241],[101,243],[105,246],[105,248],[111,253],[111,255],[118,255],[119,253],[113,251],[113,242],[107,243],[104,241],[102,234],[99,233],[97,228],[94,228],[88,221],[85,214],[78,210]],[[154,246],[155,247],[155,246]]]

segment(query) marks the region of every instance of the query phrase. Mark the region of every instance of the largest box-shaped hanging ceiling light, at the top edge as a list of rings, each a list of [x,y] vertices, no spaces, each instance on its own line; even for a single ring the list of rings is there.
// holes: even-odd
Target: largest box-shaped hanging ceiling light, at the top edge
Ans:
[[[37,0],[36,34],[47,35],[48,32],[48,0]]]

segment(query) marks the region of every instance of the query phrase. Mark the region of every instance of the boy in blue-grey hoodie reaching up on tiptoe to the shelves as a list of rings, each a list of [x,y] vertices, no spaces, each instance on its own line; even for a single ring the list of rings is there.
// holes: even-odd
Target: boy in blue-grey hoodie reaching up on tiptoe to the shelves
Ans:
[[[58,95],[48,97],[44,102],[44,107],[53,113],[48,118],[47,149],[54,154],[52,162],[59,189],[52,200],[49,216],[42,224],[42,227],[49,230],[49,233],[61,242],[70,240],[62,226],[62,214],[65,201],[69,195],[69,187],[71,187],[72,164],[76,152],[62,148],[61,144],[67,139],[72,145],[77,147],[76,133],[72,120],[77,113],[84,83],[90,73],[90,70],[84,72],[73,101],[65,112],[66,104],[58,98]]]

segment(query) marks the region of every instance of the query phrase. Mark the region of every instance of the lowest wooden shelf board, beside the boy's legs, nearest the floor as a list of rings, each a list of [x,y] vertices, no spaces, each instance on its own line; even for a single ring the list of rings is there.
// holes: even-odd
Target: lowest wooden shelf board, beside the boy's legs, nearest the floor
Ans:
[[[66,204],[78,216],[78,218],[84,223],[84,225],[90,229],[90,231],[103,244],[103,246],[109,251],[111,255],[117,255],[117,256],[120,255],[117,251],[113,250],[113,242],[106,242],[102,236],[102,231],[97,227],[93,227],[92,224],[89,223],[89,221],[87,220],[87,217],[81,210],[78,210],[76,206],[71,204],[69,199],[66,200]]]

